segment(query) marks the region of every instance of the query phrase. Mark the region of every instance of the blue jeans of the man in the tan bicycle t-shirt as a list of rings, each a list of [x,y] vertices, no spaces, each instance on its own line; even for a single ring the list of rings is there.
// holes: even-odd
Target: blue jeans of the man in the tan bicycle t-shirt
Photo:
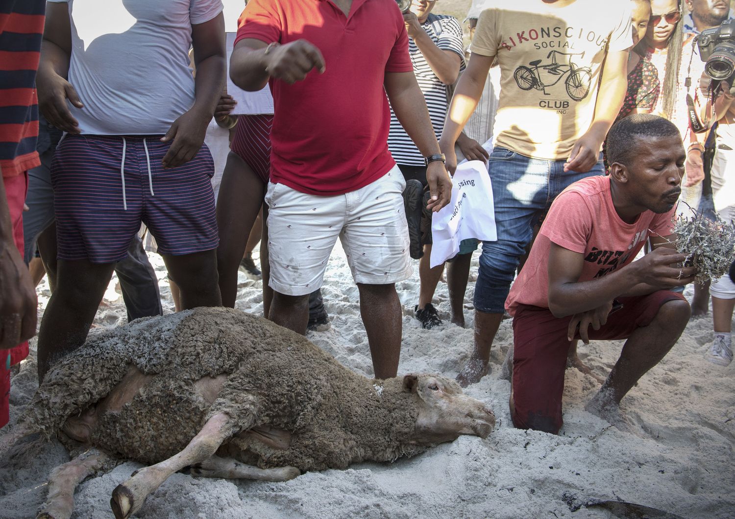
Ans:
[[[531,243],[534,225],[567,186],[592,175],[603,175],[602,161],[587,173],[564,173],[564,161],[531,159],[496,146],[487,161],[495,203],[497,242],[483,242],[475,286],[475,309],[503,313],[518,259]]]

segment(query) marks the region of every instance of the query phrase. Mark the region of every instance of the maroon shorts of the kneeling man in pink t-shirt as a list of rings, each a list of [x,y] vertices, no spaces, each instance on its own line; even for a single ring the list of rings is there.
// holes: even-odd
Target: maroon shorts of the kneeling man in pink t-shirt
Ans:
[[[589,327],[589,338],[613,341],[628,338],[653,321],[667,301],[684,300],[681,294],[661,290],[639,297],[619,297],[623,308],[611,313],[600,330]],[[548,308],[518,305],[513,318],[513,424],[556,434],[562,428],[564,370],[570,341],[567,328],[572,316],[557,319]],[[579,338],[579,334],[575,335]]]

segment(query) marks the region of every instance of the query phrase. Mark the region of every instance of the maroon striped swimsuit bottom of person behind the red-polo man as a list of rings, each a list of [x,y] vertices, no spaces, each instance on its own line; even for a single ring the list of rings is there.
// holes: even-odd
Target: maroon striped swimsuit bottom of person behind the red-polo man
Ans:
[[[273,115],[240,115],[232,137],[232,151],[243,159],[260,179],[270,180],[270,128]]]

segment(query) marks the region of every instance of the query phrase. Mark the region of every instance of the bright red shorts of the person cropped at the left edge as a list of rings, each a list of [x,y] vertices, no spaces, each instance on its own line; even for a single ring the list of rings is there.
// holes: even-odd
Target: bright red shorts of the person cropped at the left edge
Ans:
[[[23,204],[28,189],[28,175],[3,178],[7,208],[12,223],[12,238],[18,252],[23,255]],[[28,343],[18,344],[15,348],[0,349],[0,427],[8,421],[8,399],[10,398],[10,366],[21,362],[28,356]]]

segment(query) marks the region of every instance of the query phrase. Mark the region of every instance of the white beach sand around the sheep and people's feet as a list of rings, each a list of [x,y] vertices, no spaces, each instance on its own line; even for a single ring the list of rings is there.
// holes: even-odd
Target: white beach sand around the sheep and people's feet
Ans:
[[[151,261],[159,274],[165,310],[172,311],[162,261],[157,255],[151,255]],[[471,280],[476,272],[477,254]],[[399,371],[456,376],[470,352],[473,312],[465,311],[467,329],[445,324],[422,330],[412,318],[418,285],[417,273],[398,285],[404,305]],[[470,308],[473,289],[470,282],[465,301]],[[49,297],[46,284],[40,294],[43,309]],[[309,338],[345,366],[370,375],[357,288],[339,245],[329,263],[323,294],[331,330],[309,333]],[[444,283],[437,289],[437,299],[442,317],[448,317]],[[240,275],[237,308],[262,313],[259,281]],[[125,315],[113,280],[96,323],[116,326],[124,323]],[[589,498],[644,504],[686,518],[735,517],[735,364],[722,368],[704,360],[711,341],[711,317],[690,322],[667,358],[623,400],[623,410],[637,429],[634,434],[620,432],[584,411],[599,384],[573,369],[567,370],[561,435],[513,429],[509,382],[499,377],[503,355],[512,344],[510,324],[503,322],[493,346],[492,374],[467,389],[490,403],[498,417],[498,426],[486,440],[465,436],[412,459],[306,473],[284,483],[197,479],[179,473],[148,498],[137,517],[618,517],[606,509],[581,506]],[[580,353],[596,374],[606,376],[620,346],[620,342],[592,343],[581,345]],[[35,391],[34,358],[35,352],[12,380],[11,423]],[[66,461],[68,454],[54,441],[1,468],[0,518],[35,517],[46,497],[49,472]],[[83,482],[73,517],[111,517],[112,489],[139,466],[126,462]]]

